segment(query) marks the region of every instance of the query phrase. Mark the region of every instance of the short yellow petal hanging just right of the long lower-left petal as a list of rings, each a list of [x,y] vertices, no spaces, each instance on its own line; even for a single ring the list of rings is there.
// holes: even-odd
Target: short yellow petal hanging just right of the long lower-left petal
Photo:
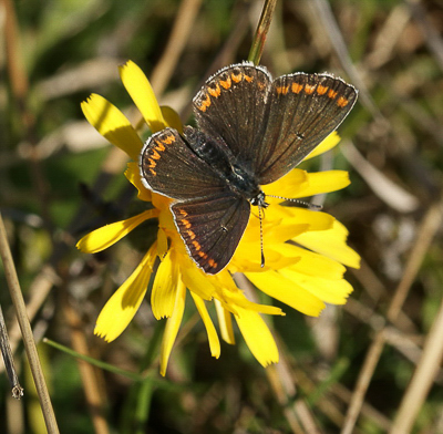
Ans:
[[[173,314],[176,290],[177,270],[169,250],[158,266],[151,292],[152,311],[157,320]]]

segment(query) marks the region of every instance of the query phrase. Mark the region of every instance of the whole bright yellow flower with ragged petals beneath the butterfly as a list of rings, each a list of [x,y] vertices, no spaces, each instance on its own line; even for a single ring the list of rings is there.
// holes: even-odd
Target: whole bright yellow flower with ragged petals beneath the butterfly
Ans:
[[[137,65],[130,61],[120,72],[152,133],[166,126],[182,131],[175,112],[158,106],[150,82]],[[135,162],[138,159],[142,141],[119,108],[92,94],[82,103],[82,110],[104,137]],[[336,146],[338,142],[338,135],[331,134],[309,157]],[[161,351],[162,375],[166,372],[182,322],[186,290],[189,290],[205,324],[213,356],[219,356],[220,343],[205,303],[209,300],[215,303],[222,338],[235,343],[234,317],[251,353],[264,366],[278,362],[278,351],[260,313],[284,313],[279,308],[249,301],[236,286],[233,273],[244,272],[262,292],[309,316],[318,316],[324,302],[346,302],[352,288],[343,279],[343,264],[359,267],[359,256],[347,246],[347,229],[333,217],[281,206],[278,199],[269,198],[271,206],[266,209],[262,238],[266,266],[260,267],[259,220],[253,217],[228,267],[216,276],[208,276],[187,255],[169,210],[171,199],[143,186],[135,162],[128,163],[125,176],[137,188],[138,199],[151,203],[153,207],[147,206],[150,209],[137,216],[92,231],[79,241],[78,248],[90,254],[101,251],[150,218],[158,219],[157,238],[133,273],[106,302],[99,316],[95,334],[113,341],[124,331],[145,297],[157,257],[161,264],[153,280],[151,306],[156,319],[167,318]],[[342,170],[308,174],[296,168],[265,186],[264,192],[299,198],[337,190],[348,184],[348,174]]]

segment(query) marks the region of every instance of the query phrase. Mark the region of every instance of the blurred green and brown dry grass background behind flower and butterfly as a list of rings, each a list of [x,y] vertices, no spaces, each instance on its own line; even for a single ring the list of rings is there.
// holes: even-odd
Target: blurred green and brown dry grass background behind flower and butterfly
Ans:
[[[164,324],[148,300],[116,341],[93,335],[147,241],[127,237],[94,256],[75,249],[87,231],[140,210],[125,154],[85,122],[80,103],[99,93],[136,123],[117,71],[133,60],[161,104],[192,122],[203,81],[247,59],[261,8],[0,1],[1,213],[62,433],[443,432],[442,0],[277,3],[261,63],[275,76],[332,72],[360,90],[341,145],[303,166],[350,172],[348,188],[318,198],[362,257],[347,272],[354,292],[346,306],[318,319],[282,307],[286,317],[268,319],[281,358],[268,370],[240,335],[212,359],[190,303],[165,379],[156,359]],[[1,267],[0,283],[25,390],[11,397],[0,363],[0,432],[44,433]],[[148,381],[99,369],[91,380],[43,337]],[[85,397],[92,381],[95,406]]]

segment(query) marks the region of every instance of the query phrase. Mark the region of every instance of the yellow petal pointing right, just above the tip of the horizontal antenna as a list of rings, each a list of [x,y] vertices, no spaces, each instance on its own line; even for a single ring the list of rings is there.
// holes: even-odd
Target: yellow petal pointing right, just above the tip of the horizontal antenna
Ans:
[[[351,182],[346,170],[310,173],[308,174],[308,183],[305,184],[305,188],[300,188],[296,196],[290,196],[290,198],[297,199],[298,197],[309,197],[320,193],[337,192],[348,187],[349,184],[351,184]]]

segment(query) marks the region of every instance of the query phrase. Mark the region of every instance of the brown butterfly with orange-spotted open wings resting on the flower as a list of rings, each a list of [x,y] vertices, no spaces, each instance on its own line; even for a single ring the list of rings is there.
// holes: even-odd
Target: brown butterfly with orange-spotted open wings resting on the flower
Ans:
[[[193,100],[198,128],[153,134],[140,155],[144,186],[173,198],[171,211],[189,256],[206,273],[230,261],[260,186],[296,167],[344,120],[358,91],[331,74],[272,80],[264,66],[233,64]]]

